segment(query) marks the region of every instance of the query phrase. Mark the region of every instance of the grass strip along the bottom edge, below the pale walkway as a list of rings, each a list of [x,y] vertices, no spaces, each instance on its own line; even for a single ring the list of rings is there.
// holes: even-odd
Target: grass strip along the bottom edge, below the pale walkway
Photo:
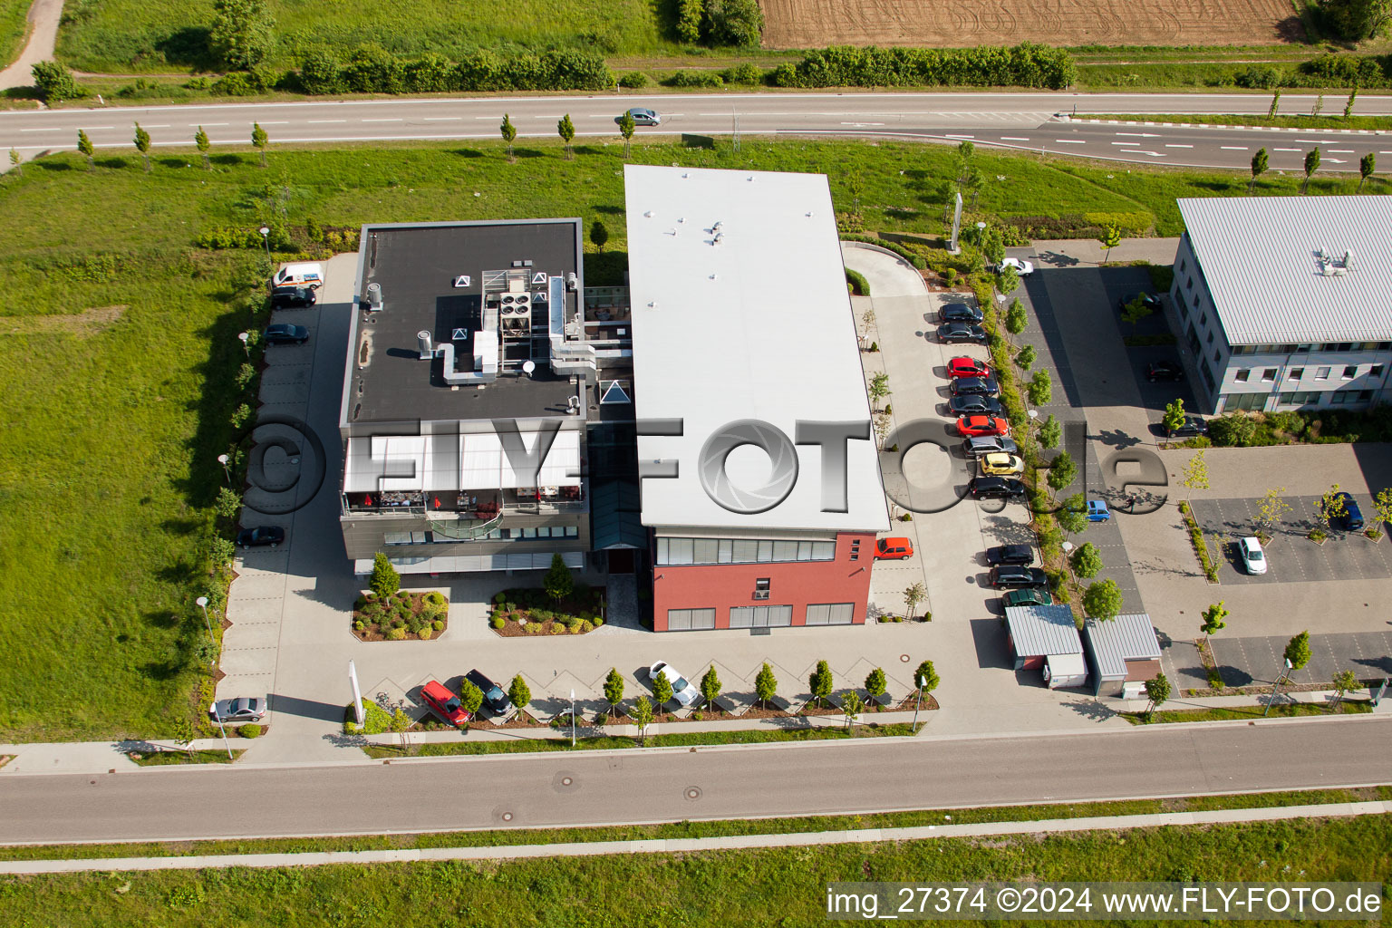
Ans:
[[[1382,850],[1378,850],[1381,847]],[[695,854],[0,878],[0,925],[813,925],[832,881],[1382,881],[1392,815]],[[1300,875],[1296,877],[1296,871]],[[1139,922],[1137,922],[1139,924]],[[1217,924],[1217,922],[1214,922]]]

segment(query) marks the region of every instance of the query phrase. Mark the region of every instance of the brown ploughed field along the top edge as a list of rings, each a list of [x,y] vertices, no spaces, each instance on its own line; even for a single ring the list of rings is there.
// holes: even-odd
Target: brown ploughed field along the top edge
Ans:
[[[764,46],[1222,46],[1304,35],[1290,0],[763,0]]]

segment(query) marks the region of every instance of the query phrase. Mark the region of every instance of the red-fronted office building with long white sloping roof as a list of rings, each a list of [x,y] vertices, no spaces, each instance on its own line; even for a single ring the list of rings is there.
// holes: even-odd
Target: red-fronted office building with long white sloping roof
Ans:
[[[825,175],[625,189],[654,629],[864,622],[889,520]]]

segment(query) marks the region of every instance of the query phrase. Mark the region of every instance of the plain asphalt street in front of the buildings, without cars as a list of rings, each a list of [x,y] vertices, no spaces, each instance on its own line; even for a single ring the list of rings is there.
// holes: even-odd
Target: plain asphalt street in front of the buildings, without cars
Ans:
[[[387,833],[1385,783],[1392,719],[0,781],[0,843]]]

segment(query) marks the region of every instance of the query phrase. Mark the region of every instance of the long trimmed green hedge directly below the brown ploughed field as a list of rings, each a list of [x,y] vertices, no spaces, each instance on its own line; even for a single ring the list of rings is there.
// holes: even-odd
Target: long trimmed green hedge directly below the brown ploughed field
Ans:
[[[1061,90],[1073,83],[1077,68],[1063,49],[1030,42],[1013,47],[974,49],[856,49],[830,46],[782,64],[774,86],[1023,86]]]

